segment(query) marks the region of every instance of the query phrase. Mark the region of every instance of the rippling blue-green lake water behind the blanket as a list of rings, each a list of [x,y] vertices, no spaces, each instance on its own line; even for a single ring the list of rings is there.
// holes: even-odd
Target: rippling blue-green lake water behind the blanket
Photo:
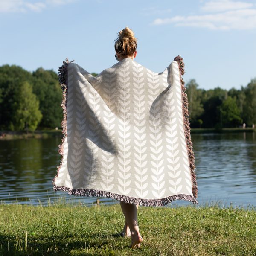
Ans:
[[[255,132],[191,134],[198,183],[198,203],[218,203],[220,207],[256,206]],[[2,203],[43,204],[56,201],[87,206],[97,198],[54,192],[52,179],[61,155],[61,137],[0,141],[0,201]],[[99,198],[104,204],[119,201]],[[176,200],[166,207],[188,205]]]

